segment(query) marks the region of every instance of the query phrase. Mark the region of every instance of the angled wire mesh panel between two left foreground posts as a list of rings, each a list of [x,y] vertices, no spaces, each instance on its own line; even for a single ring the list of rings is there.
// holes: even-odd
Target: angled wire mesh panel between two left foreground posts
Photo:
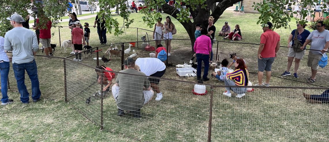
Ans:
[[[101,125],[101,86],[95,69],[67,58],[65,68],[67,102],[89,120]]]

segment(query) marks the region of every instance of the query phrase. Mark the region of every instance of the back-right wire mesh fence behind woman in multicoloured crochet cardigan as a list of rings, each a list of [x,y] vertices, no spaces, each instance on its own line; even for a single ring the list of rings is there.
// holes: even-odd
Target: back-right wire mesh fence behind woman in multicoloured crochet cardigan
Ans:
[[[219,59],[223,60],[224,58],[226,58],[231,63],[233,62],[233,60],[230,59],[230,54],[237,53],[237,57],[245,60],[248,66],[248,70],[250,72],[256,73],[258,72],[258,56],[257,56],[258,47],[259,47],[258,44],[218,42]],[[275,58],[274,63],[272,64],[272,76],[283,77],[298,82],[306,82],[306,79],[312,75],[311,67],[307,66],[307,58],[309,51],[306,50],[305,55],[300,60],[300,65],[297,71],[297,75],[299,76],[299,78],[293,77],[295,59],[292,62],[292,66],[290,68],[291,75],[290,76],[281,75],[284,71],[287,70],[288,51],[289,49],[287,47],[280,47],[280,50],[277,53],[277,57]],[[316,75],[316,82],[312,84],[322,87],[327,87],[329,85],[327,81],[329,78],[329,76],[327,75],[327,68],[328,67],[322,69],[319,67]]]

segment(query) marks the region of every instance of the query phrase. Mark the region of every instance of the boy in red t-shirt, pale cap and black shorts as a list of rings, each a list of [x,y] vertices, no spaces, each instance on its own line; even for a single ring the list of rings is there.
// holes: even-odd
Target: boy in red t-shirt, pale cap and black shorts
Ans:
[[[72,29],[72,34],[71,34],[71,41],[74,45],[74,52],[75,52],[75,58],[73,58],[73,60],[81,62],[82,45],[86,45],[84,38],[85,33],[80,28],[81,25],[80,21],[76,21],[75,25],[76,26],[75,28]],[[81,39],[83,40],[83,42],[81,41]],[[78,59],[78,54],[79,54],[79,59]]]

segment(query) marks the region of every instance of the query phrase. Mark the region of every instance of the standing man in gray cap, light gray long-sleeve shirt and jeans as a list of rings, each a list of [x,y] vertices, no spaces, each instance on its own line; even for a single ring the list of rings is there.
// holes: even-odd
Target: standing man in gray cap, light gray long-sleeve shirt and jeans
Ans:
[[[13,70],[17,80],[17,88],[21,94],[20,100],[24,104],[29,103],[29,92],[24,83],[26,71],[31,79],[33,102],[37,102],[41,96],[37,64],[34,59],[34,55],[39,49],[37,35],[32,30],[23,27],[21,15],[13,14],[7,20],[10,20],[13,29],[5,34],[4,49],[5,51],[13,51]]]

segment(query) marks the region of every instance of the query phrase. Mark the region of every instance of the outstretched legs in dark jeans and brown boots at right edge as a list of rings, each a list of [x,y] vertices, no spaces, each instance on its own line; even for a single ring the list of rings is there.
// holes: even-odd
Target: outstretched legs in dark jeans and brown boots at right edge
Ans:
[[[312,104],[321,104],[329,102],[329,90],[324,91],[321,95],[310,95],[307,93],[303,93],[303,96],[305,97],[307,102]]]

